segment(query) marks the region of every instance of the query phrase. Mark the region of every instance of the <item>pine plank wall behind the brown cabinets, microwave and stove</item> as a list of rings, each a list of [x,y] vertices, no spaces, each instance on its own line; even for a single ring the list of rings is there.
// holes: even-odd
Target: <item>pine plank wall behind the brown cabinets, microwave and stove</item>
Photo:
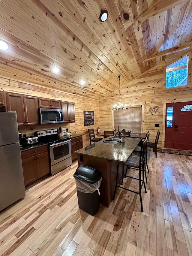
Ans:
[[[25,95],[32,95],[42,98],[57,99],[61,101],[75,102],[75,123],[64,123],[61,127],[68,128],[72,134],[83,134],[83,146],[90,144],[88,129],[94,128],[95,134],[99,127],[99,101],[83,98],[78,95],[64,93],[62,91],[54,91],[46,89],[43,86],[21,83],[16,80],[0,77],[0,90],[12,93],[20,93]],[[94,125],[84,126],[83,110],[94,111]],[[27,134],[27,136],[34,135],[34,131],[58,128],[59,124],[49,125],[31,125],[19,126],[19,132]]]

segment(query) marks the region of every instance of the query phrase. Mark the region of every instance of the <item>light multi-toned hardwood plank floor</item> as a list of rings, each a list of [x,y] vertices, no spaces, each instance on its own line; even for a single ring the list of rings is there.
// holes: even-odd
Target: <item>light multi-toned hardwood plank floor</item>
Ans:
[[[139,195],[120,188],[95,216],[79,210],[77,166],[0,212],[0,255],[192,255],[192,156],[151,153],[143,213]]]

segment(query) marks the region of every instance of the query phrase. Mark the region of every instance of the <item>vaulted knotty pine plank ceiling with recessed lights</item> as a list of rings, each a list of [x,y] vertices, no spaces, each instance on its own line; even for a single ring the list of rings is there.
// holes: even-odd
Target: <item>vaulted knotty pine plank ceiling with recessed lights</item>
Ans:
[[[0,76],[100,100],[191,51],[192,0],[1,0],[0,38]]]

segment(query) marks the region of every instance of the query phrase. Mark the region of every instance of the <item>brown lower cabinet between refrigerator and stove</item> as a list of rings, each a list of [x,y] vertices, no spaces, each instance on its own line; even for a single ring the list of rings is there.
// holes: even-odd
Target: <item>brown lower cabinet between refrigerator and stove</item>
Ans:
[[[25,186],[50,173],[48,146],[21,152]]]

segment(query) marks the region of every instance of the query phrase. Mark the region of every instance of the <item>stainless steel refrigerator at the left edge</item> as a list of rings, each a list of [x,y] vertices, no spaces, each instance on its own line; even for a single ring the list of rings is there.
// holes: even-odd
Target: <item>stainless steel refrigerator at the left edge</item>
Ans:
[[[16,112],[0,112],[0,211],[24,196]]]

